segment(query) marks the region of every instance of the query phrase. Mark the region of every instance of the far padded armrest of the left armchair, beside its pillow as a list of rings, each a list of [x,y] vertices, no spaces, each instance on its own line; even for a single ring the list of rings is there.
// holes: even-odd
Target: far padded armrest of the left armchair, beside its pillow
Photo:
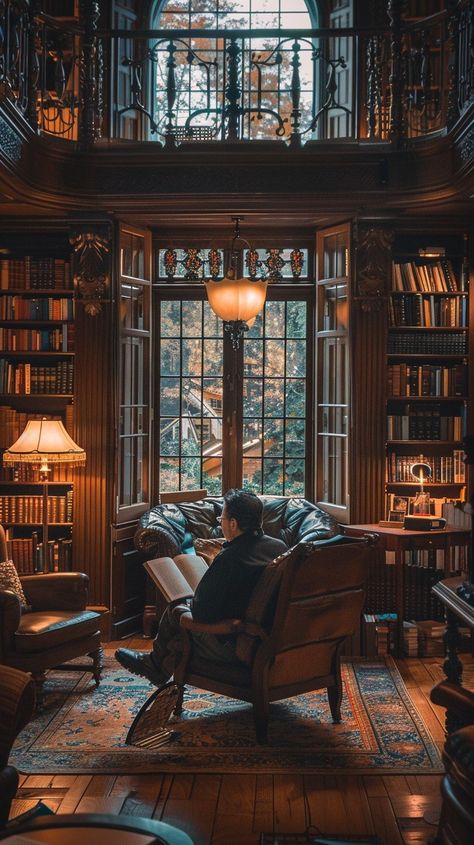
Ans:
[[[89,576],[83,572],[50,572],[21,579],[33,610],[84,610],[89,593]]]

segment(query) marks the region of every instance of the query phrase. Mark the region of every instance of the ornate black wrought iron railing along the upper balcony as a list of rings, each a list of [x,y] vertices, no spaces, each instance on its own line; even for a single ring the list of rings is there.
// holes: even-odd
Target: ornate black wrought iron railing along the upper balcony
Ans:
[[[0,0],[0,96],[37,130],[186,142],[400,141],[450,127],[474,97],[474,0],[389,30],[97,29]]]

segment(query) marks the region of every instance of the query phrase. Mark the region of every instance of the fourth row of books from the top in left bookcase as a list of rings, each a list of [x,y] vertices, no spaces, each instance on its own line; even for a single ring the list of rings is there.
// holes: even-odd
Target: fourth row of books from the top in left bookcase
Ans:
[[[0,393],[66,395],[73,392],[73,361],[59,361],[57,364],[39,367],[0,358]]]

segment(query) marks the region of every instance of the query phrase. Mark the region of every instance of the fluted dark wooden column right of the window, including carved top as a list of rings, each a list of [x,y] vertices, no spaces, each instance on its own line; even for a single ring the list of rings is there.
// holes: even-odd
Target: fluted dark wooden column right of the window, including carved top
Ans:
[[[370,223],[354,232],[351,312],[351,522],[384,516],[387,298],[392,233]]]

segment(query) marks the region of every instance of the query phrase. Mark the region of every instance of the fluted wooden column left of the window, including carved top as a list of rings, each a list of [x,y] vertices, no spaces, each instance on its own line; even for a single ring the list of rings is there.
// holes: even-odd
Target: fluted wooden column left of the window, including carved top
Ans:
[[[114,484],[113,308],[108,227],[71,235],[76,288],[74,439],[87,454],[74,485],[74,566],[90,578],[89,603],[110,607]]]

